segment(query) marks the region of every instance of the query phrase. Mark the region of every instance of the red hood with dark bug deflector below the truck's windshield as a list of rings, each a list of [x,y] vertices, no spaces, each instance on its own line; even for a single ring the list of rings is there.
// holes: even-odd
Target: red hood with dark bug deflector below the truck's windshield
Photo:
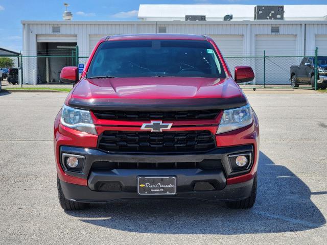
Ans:
[[[244,93],[232,79],[176,77],[82,79],[67,102],[82,109],[116,110],[140,106],[152,110],[188,106],[195,110],[200,104],[201,108],[212,108],[213,104],[236,107],[246,103]]]

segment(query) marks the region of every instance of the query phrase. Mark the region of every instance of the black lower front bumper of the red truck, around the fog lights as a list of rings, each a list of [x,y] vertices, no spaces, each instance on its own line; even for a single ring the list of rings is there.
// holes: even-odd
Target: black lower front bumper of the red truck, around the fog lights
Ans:
[[[229,156],[235,154],[251,154],[251,162],[246,169],[233,171]],[[208,201],[231,201],[249,197],[253,179],[243,183],[227,185],[227,179],[249,173],[253,166],[253,146],[240,145],[224,148],[217,148],[203,154],[183,155],[142,155],[106,153],[97,149],[84,149],[72,146],[61,146],[60,156],[72,154],[83,156],[83,166],[78,172],[68,170],[64,165],[64,157],[61,157],[60,164],[66,175],[79,179],[85,179],[87,186],[76,185],[61,181],[62,190],[66,199],[79,202],[109,202],[119,199],[171,199],[171,198],[195,198]],[[65,155],[64,155],[65,156]],[[201,162],[203,160],[215,159],[221,162],[221,168],[201,169],[95,169],[95,162],[127,162],[127,163],[148,163],[160,164]],[[139,176],[174,176],[177,182],[177,193],[167,195],[139,195],[137,193],[137,177]],[[196,183],[209,183],[210,190],[198,190]],[[116,184],[118,189],[103,191],[100,186],[104,184]]]

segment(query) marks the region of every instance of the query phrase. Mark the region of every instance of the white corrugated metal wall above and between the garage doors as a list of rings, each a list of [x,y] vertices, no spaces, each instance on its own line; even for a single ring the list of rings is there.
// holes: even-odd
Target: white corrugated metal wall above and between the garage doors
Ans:
[[[327,23],[324,21],[206,21],[205,23],[183,21],[158,21],[157,23],[154,21],[22,21],[22,25],[23,54],[30,56],[36,55],[37,35],[77,35],[80,55],[87,56],[90,52],[89,35],[156,33],[159,26],[165,26],[168,33],[242,35],[243,53],[240,55],[243,56],[256,54],[257,35],[295,35],[296,55],[314,53],[316,35],[327,35]],[[52,26],[60,26],[60,33],[52,33]],[[272,26],[279,27],[279,33],[271,33]],[[292,48],[293,51],[294,48]],[[33,69],[37,70],[37,62],[24,62],[23,60],[23,64],[25,82],[31,83],[33,80],[31,74],[33,75]],[[255,61],[242,59],[242,64],[254,66]]]

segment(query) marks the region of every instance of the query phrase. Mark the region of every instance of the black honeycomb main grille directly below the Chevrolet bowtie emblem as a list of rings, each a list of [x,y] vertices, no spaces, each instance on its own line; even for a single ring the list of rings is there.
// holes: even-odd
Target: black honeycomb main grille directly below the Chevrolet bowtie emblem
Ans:
[[[215,136],[201,131],[104,131],[98,148],[107,152],[178,153],[206,152],[216,148]]]

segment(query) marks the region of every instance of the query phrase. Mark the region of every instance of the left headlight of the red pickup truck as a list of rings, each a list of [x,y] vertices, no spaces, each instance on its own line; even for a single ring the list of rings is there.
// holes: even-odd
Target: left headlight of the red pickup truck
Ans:
[[[89,111],[64,105],[61,112],[61,124],[71,129],[97,135]]]

